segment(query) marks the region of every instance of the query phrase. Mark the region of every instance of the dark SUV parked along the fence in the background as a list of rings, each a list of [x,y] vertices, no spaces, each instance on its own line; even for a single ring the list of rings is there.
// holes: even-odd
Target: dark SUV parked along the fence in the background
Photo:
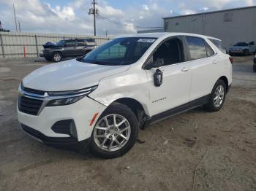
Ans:
[[[95,39],[67,39],[58,43],[48,42],[43,45],[41,57],[48,61],[59,62],[62,58],[86,55],[97,47]]]

